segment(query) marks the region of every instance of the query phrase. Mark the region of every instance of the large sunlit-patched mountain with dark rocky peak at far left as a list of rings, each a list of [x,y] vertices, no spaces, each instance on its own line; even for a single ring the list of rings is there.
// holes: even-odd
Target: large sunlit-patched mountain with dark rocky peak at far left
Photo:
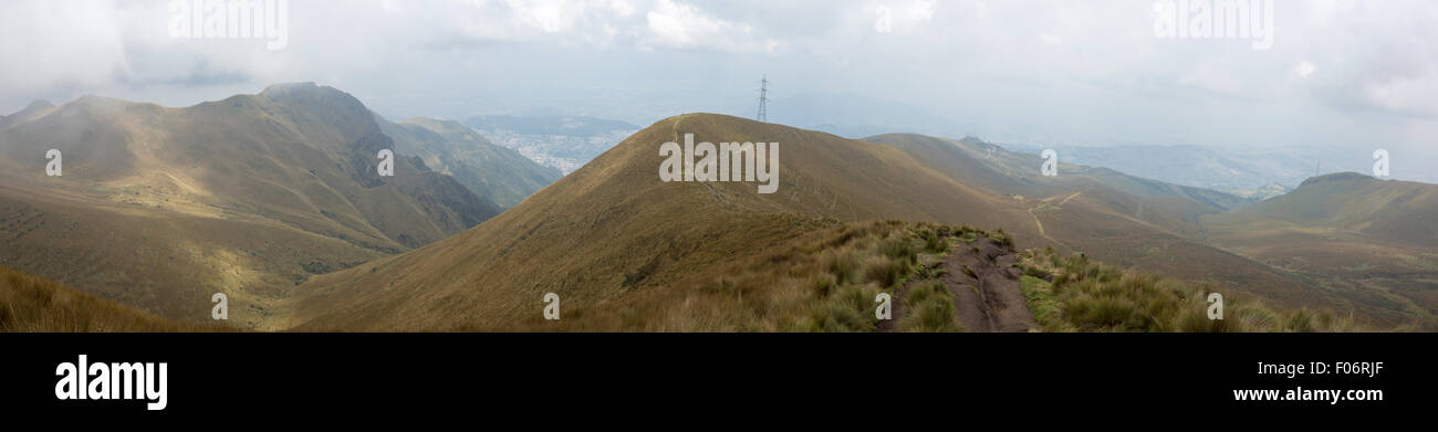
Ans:
[[[499,212],[417,156],[380,177],[394,146],[358,99],[313,83],[188,108],[85,96],[0,131],[0,264],[178,320],[227,293],[236,326],[279,327],[311,274]]]

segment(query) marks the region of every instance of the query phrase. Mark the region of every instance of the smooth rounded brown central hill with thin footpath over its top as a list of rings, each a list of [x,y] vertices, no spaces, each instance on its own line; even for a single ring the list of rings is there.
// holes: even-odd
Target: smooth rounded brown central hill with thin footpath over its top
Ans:
[[[659,146],[779,142],[779,188],[661,182]],[[544,293],[610,301],[741,260],[802,235],[802,220],[956,220],[998,225],[1021,210],[917,164],[892,146],[719,115],[683,115],[630,136],[580,171],[475,230],[400,257],[318,277],[306,329],[400,330],[509,324]],[[800,221],[800,222],[795,222]]]

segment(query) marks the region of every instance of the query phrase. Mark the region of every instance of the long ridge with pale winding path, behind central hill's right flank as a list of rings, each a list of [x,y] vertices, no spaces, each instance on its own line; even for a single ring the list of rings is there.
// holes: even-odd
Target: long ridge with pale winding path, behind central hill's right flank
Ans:
[[[1068,165],[1061,155],[1058,177],[1045,178],[1040,175],[1038,155],[1008,152],[972,138],[890,133],[867,139],[899,146],[958,182],[1009,198],[1024,214],[1002,227],[1015,233],[1021,247],[1084,253],[1125,268],[1211,283],[1283,307],[1357,310],[1363,319],[1385,313],[1382,304],[1333,296],[1304,274],[1209,245],[1202,218],[1244,208],[1247,199]]]

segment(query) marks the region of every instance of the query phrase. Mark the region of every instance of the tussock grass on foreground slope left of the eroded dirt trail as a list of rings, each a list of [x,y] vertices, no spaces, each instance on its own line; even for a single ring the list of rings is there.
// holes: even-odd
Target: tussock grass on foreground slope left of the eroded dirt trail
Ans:
[[[771,247],[774,253],[634,293],[623,307],[580,307],[561,321],[513,330],[874,332],[874,297],[942,276],[919,266],[922,255],[946,253],[949,238],[966,230],[974,231],[893,220],[833,224]],[[952,294],[906,300],[905,307],[916,317],[902,330],[958,330]]]

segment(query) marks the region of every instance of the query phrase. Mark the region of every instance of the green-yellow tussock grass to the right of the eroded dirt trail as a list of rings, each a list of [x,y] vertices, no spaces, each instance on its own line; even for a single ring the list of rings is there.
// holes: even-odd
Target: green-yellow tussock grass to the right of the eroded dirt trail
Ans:
[[[1022,290],[1045,332],[1355,332],[1353,317],[1307,309],[1278,311],[1224,293],[1224,319],[1208,319],[1206,286],[1063,257],[1053,248],[1020,254]],[[1051,278],[1051,280],[1045,280]]]

